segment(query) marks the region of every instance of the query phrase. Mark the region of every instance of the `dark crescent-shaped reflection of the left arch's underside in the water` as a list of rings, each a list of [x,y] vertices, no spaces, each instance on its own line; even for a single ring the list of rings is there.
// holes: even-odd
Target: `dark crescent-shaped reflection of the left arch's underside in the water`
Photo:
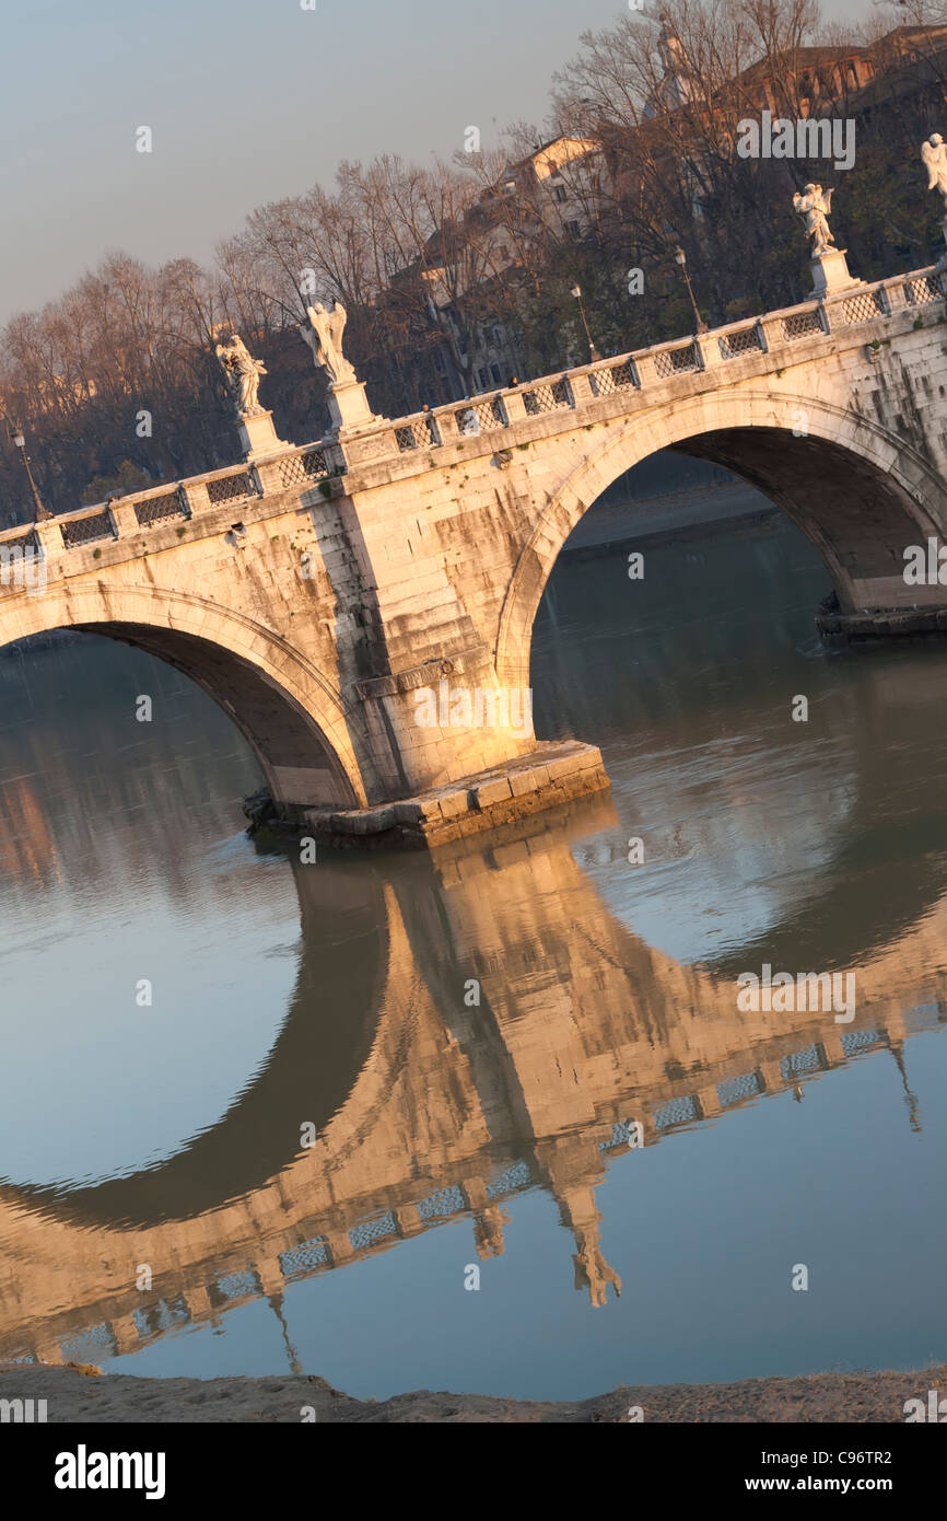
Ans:
[[[385,1002],[389,926],[375,872],[293,864],[302,957],[292,1005],[266,1066],[208,1130],[154,1168],[88,1188],[0,1183],[3,1202],[78,1226],[147,1229],[190,1220],[251,1194],[299,1153],[299,1126],[321,1133],[345,1106]],[[321,916],[347,914],[348,935],[321,937]],[[353,954],[354,948],[354,954]],[[353,1007],[359,1019],[339,1016]]]

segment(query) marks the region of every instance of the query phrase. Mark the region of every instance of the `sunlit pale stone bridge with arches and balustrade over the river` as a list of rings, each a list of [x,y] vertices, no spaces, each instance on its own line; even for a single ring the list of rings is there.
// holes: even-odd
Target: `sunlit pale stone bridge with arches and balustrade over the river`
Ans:
[[[906,549],[947,537],[944,278],[853,281],[397,421],[365,408],[304,447],[245,430],[240,465],[2,534],[0,643],[79,628],[179,666],[316,834],[436,843],[603,788],[593,745],[534,735],[532,625],[575,525],[655,450],[786,510],[835,581],[828,631],[947,627],[936,576],[904,580]]]

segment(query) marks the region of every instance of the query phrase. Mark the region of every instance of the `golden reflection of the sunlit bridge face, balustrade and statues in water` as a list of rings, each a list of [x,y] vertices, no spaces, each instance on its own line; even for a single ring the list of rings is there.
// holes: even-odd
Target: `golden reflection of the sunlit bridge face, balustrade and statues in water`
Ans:
[[[610,805],[585,808],[584,829],[596,812],[611,821]],[[730,967],[681,966],[625,929],[562,829],[404,867],[395,887],[365,862],[299,868],[304,945],[318,943],[325,907],[356,910],[360,896],[368,926],[383,900],[382,966],[351,943],[337,966],[304,951],[268,1071],[214,1132],[97,1188],[0,1189],[0,1238],[12,1244],[0,1355],[103,1358],[261,1296],[278,1311],[290,1284],[459,1217],[489,1258],[503,1252],[503,1203],[531,1186],[555,1197],[576,1285],[603,1303],[616,1273],[596,1188],[632,1122],[654,1145],[762,1095],[801,1097],[868,1051],[889,1051],[903,1072],[906,1037],[942,1019],[947,896],[848,963],[857,1011],[839,1025],[739,1013]],[[345,1040],[336,1028],[333,1045],[333,987],[353,975],[374,1025]],[[471,978],[479,1007],[465,1005]],[[906,1077],[904,1091],[918,1124]],[[301,1151],[306,1121],[318,1139]],[[135,1288],[140,1264],[154,1272],[149,1291]]]

